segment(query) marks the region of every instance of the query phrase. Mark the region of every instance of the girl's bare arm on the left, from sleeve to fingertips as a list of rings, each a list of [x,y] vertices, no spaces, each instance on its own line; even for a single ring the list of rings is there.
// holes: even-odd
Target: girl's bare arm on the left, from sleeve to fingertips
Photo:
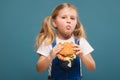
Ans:
[[[37,64],[36,64],[36,69],[38,72],[42,72],[44,70],[46,70],[50,63],[52,62],[52,60],[56,57],[57,53],[62,50],[62,46],[61,45],[56,45],[49,56],[39,56]]]

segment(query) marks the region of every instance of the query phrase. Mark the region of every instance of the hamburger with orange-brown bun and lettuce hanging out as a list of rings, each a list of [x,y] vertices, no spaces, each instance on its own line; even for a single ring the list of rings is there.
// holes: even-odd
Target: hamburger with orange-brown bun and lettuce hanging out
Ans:
[[[71,61],[76,58],[76,51],[73,50],[72,45],[73,42],[64,42],[59,43],[61,46],[63,46],[63,49],[59,52],[58,58],[63,61],[68,61],[68,66],[71,67]]]

